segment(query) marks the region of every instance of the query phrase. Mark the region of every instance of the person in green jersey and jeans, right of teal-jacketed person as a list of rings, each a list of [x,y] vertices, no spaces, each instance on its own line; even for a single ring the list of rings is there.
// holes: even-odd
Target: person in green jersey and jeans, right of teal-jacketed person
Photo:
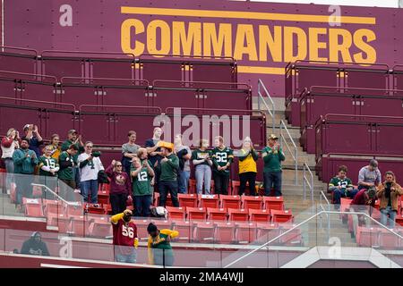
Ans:
[[[60,170],[58,160],[52,157],[53,147],[47,145],[44,148],[44,155],[39,157],[39,179],[47,188],[55,191],[57,185],[57,172]],[[45,198],[54,198],[45,192]]]

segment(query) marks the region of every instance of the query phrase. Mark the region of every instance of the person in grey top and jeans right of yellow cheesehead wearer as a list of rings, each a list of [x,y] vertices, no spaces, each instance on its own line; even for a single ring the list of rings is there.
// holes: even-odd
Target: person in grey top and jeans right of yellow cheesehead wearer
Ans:
[[[189,186],[190,178],[190,158],[192,157],[192,151],[189,147],[184,146],[182,142],[182,135],[176,134],[175,137],[175,153],[179,158],[179,175],[177,178],[178,193],[187,194],[187,188]]]

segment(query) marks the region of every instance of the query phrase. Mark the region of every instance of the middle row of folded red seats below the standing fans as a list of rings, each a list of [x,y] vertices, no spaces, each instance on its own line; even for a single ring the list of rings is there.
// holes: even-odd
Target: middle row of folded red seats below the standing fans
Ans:
[[[238,209],[191,206],[167,206],[168,218],[188,221],[228,221],[228,222],[266,222],[287,223],[292,221],[290,210],[275,209]]]

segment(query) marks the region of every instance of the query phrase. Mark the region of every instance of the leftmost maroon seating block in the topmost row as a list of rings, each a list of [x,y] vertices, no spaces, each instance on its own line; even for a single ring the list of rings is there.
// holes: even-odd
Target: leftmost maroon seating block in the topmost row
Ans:
[[[0,70],[37,73],[37,57],[38,54],[35,50],[2,46]]]

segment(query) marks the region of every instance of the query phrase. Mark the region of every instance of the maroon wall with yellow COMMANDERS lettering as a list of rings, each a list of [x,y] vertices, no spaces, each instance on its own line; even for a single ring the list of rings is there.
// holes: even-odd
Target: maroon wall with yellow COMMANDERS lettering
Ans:
[[[232,56],[238,81],[256,88],[261,78],[275,97],[284,94],[285,65],[296,59],[403,62],[401,9],[339,9],[341,17],[315,4],[4,0],[4,45]]]

